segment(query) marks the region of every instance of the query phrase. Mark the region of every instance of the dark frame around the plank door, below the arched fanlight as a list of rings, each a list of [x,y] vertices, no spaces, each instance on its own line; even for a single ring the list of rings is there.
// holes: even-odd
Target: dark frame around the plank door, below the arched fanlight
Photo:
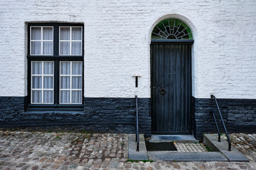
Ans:
[[[193,45],[194,43],[194,39],[152,39],[151,43],[150,43],[150,110],[151,110],[151,132],[152,134],[192,134],[193,133],[193,96],[192,96],[192,75],[193,75],[193,68],[192,68],[192,49],[191,48],[191,85],[190,85],[190,93],[191,93],[191,99],[190,99],[190,103],[191,103],[191,107],[190,107],[190,114],[189,118],[190,120],[188,120],[188,124],[189,124],[189,132],[154,132],[153,131],[153,107],[152,107],[152,94],[153,94],[153,78],[152,78],[152,48],[151,45],[152,44],[166,44],[166,45]]]

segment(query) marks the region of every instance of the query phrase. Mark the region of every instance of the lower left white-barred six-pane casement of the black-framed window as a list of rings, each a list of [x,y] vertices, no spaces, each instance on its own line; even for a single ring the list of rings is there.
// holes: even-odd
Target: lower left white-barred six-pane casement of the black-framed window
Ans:
[[[31,103],[53,103],[54,62],[31,62]]]

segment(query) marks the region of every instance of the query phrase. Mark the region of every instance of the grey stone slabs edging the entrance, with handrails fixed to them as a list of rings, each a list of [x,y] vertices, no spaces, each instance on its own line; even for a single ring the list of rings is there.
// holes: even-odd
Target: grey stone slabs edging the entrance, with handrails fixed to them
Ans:
[[[154,137],[152,141],[161,142],[160,137]],[[180,137],[179,137],[180,138]],[[232,147],[232,152],[227,151],[226,143],[215,143],[215,138],[211,135],[204,135],[204,144],[209,146],[213,152],[172,152],[172,151],[151,151],[148,152],[143,134],[140,134],[140,152],[136,151],[135,134],[129,134],[128,157],[131,160],[169,160],[169,161],[248,161],[236,148]],[[169,139],[168,139],[169,141]],[[189,142],[191,143],[191,139]],[[186,140],[182,140],[186,143]],[[217,141],[218,142],[218,141]],[[225,143],[226,142],[226,143]],[[225,145],[225,146],[224,146]]]

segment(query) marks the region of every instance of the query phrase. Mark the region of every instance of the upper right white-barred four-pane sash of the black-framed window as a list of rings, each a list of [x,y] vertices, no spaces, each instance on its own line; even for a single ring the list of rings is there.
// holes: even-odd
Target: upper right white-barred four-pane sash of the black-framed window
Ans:
[[[60,55],[82,55],[82,27],[60,27]]]

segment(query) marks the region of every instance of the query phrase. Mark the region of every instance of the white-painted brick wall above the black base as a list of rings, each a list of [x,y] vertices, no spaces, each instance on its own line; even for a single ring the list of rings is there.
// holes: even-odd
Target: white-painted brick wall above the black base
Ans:
[[[193,29],[194,97],[256,98],[255,0],[0,0],[0,96],[27,95],[25,22],[59,21],[84,23],[85,97],[150,97],[150,34],[166,17]]]

